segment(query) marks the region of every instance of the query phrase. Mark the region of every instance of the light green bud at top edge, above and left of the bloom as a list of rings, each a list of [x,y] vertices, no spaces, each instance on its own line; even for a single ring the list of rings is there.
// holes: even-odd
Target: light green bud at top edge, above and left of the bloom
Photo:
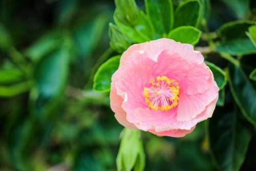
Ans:
[[[138,22],[139,9],[135,0],[115,0],[116,10],[119,12],[116,17],[124,24],[134,26]]]

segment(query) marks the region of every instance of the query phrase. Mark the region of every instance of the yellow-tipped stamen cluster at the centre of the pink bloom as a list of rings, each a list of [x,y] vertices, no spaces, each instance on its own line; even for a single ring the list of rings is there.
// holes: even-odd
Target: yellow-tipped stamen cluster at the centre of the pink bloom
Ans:
[[[144,87],[143,95],[148,106],[153,110],[168,111],[178,105],[180,87],[175,79],[157,76],[150,79],[152,86]]]

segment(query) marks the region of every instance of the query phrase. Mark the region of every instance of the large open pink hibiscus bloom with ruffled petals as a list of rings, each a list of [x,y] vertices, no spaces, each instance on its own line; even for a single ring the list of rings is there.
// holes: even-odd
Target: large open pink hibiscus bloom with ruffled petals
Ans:
[[[112,76],[110,104],[125,127],[183,137],[212,116],[218,91],[200,52],[161,38],[122,54]]]

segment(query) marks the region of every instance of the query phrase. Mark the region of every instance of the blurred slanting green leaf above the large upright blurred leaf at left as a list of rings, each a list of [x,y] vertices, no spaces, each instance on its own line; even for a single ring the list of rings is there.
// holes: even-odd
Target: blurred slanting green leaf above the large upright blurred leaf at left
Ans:
[[[46,33],[32,44],[25,53],[33,61],[38,61],[45,55],[60,47],[63,38],[60,31]]]

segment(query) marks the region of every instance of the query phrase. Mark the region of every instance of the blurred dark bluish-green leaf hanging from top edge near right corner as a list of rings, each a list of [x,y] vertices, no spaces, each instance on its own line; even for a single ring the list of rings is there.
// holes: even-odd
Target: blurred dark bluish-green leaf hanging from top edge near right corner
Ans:
[[[246,19],[250,15],[250,0],[221,0],[240,19]]]

